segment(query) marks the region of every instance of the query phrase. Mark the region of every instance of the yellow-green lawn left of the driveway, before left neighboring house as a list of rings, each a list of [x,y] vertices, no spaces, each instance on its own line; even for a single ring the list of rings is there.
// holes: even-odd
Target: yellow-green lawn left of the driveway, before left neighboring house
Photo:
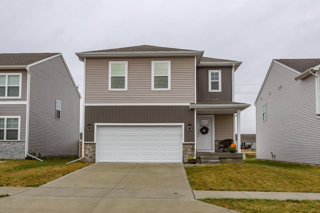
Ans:
[[[49,158],[38,160],[0,160],[0,186],[41,186],[92,163],[76,158]]]

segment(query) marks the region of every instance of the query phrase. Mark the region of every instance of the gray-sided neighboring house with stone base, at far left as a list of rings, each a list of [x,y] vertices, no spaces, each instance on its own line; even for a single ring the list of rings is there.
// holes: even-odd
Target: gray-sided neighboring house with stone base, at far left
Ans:
[[[78,156],[79,100],[60,53],[0,54],[0,158]]]

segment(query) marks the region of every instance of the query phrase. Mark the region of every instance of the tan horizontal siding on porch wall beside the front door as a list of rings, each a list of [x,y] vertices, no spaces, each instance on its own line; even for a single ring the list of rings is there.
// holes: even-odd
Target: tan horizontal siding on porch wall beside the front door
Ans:
[[[233,139],[233,115],[214,115],[214,140]]]

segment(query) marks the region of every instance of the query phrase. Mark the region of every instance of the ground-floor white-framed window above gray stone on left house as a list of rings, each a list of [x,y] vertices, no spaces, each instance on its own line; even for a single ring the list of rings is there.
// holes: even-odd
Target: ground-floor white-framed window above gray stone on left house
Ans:
[[[20,141],[21,116],[0,116],[0,140]]]

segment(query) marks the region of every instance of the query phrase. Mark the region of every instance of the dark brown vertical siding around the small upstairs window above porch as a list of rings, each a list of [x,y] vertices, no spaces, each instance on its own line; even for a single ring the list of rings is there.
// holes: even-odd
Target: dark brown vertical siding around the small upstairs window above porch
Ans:
[[[209,92],[209,70],[221,70],[221,92]],[[200,99],[232,101],[231,67],[197,67],[196,95]]]

